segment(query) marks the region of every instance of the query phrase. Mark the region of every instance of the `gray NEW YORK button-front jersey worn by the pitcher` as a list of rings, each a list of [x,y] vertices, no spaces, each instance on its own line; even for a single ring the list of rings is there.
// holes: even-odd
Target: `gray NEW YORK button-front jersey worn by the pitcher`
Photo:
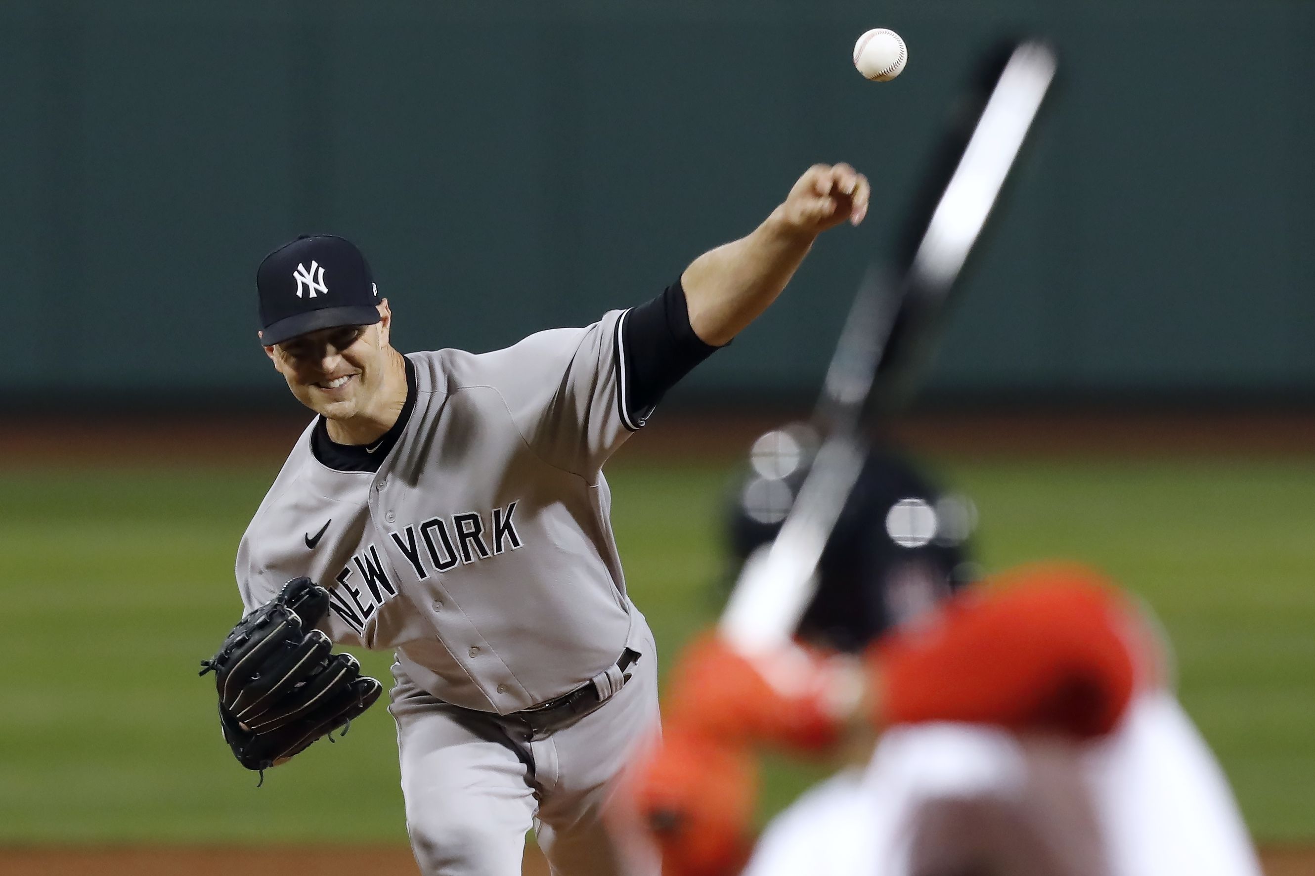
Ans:
[[[334,642],[396,648],[455,705],[509,714],[615,666],[626,596],[602,464],[638,425],[613,310],[505,350],[416,353],[416,405],[376,472],[316,459],[308,426],[237,556],[247,610],[306,575]]]

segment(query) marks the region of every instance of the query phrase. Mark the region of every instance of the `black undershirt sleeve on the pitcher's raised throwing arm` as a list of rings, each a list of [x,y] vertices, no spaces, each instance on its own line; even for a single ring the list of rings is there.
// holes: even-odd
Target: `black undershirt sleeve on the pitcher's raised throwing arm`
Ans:
[[[629,422],[643,425],[663,395],[719,349],[694,334],[680,280],[652,301],[626,312],[621,356],[627,374],[621,404]]]

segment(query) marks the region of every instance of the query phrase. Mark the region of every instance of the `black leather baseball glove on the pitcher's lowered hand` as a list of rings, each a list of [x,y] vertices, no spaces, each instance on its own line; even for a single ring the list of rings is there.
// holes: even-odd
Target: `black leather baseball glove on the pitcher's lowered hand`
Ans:
[[[314,629],[327,612],[329,592],[295,577],[201,662],[201,675],[214,672],[224,739],[247,769],[283,763],[338,727],[346,734],[379,698],[383,685],[350,654],[330,654]]]

